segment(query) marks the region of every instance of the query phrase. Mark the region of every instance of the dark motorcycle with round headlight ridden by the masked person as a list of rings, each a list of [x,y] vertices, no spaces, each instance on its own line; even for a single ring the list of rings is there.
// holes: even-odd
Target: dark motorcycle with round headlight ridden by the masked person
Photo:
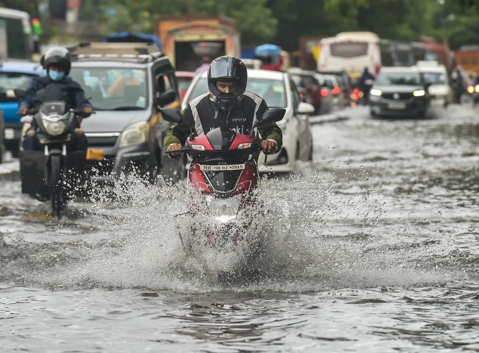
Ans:
[[[16,89],[15,95],[22,98],[25,91]],[[49,100],[41,103],[39,108],[30,109],[27,115],[33,117],[38,127],[37,131],[30,130],[27,134],[37,136],[43,151],[20,150],[22,193],[42,200],[50,199],[52,216],[60,218],[73,185],[81,184],[86,177],[85,152],[67,150],[72,134],[82,133],[76,128],[76,117],[85,117],[85,113],[66,109],[64,101]]]

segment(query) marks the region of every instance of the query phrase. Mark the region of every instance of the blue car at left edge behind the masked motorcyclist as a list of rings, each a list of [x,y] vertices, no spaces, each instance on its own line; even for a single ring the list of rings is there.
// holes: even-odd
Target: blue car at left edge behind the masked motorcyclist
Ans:
[[[13,157],[18,156],[22,124],[18,111],[18,99],[13,89],[26,89],[33,77],[41,75],[42,67],[29,61],[0,61],[0,107],[5,119],[5,147]]]

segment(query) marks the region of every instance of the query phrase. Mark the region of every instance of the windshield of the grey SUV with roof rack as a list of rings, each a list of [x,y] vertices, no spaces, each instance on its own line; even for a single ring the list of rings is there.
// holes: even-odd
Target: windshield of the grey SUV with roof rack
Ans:
[[[73,67],[70,76],[95,110],[144,110],[148,106],[146,71],[131,68]]]

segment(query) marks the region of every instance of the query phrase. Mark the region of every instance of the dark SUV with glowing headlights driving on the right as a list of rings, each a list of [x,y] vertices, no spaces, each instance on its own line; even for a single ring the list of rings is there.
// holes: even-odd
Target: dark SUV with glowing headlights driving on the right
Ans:
[[[424,117],[429,107],[426,86],[417,68],[381,68],[369,92],[371,115]]]

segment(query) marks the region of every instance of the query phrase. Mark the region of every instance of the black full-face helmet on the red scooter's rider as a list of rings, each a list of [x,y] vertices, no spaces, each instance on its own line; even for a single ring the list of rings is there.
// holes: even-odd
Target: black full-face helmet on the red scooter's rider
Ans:
[[[232,93],[221,93],[218,87],[216,87],[217,81],[235,81],[238,83],[238,88]],[[232,109],[238,104],[246,90],[247,82],[248,72],[246,66],[237,57],[230,55],[220,56],[210,64],[208,69],[208,88],[223,109]]]

